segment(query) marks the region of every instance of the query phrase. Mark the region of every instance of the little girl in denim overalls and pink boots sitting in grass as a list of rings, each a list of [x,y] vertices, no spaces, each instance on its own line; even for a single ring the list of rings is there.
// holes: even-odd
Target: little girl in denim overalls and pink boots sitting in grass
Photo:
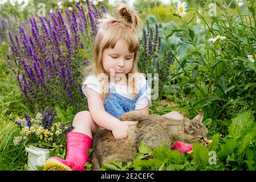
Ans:
[[[94,42],[94,65],[82,86],[89,111],[75,115],[74,130],[67,134],[66,159],[51,157],[46,161],[44,170],[83,171],[89,159],[86,150],[92,146],[94,133],[107,129],[116,139],[125,139],[128,127],[137,122],[120,121],[118,118],[131,110],[148,114],[151,88],[137,71],[140,46],[137,34],[141,20],[123,3],[117,13],[119,19],[105,14],[105,18],[99,20]],[[182,115],[173,111],[166,117],[182,118]]]

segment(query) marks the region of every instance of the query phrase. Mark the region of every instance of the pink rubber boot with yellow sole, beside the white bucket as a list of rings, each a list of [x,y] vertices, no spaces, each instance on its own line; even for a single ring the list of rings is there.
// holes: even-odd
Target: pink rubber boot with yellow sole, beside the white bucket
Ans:
[[[84,171],[84,164],[89,159],[86,150],[90,150],[92,146],[92,138],[88,135],[72,131],[67,134],[67,155],[66,160],[51,157],[44,164],[44,171]]]

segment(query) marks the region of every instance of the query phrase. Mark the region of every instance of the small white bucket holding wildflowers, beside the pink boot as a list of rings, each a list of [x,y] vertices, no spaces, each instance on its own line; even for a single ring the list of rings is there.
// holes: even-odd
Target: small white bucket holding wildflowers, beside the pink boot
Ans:
[[[28,171],[36,171],[36,166],[44,166],[44,163],[50,157],[50,149],[29,146],[29,148],[26,147],[25,150],[28,152]]]

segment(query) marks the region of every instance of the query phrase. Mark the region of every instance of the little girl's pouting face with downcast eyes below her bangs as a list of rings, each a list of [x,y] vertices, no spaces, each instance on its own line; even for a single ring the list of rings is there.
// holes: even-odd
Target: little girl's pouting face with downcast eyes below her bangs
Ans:
[[[119,40],[115,47],[105,48],[103,51],[103,68],[110,76],[115,72],[118,74],[128,74],[132,70],[134,52],[129,52],[128,45],[123,40]]]

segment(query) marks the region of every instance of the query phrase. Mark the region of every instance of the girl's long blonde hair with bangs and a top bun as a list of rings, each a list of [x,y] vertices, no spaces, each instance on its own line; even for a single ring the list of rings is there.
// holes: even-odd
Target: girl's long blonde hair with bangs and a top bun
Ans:
[[[133,57],[133,67],[130,73],[133,73],[133,75],[138,73],[137,59],[140,47],[138,33],[142,24],[141,19],[135,10],[129,8],[124,3],[120,3],[117,13],[119,18],[115,18],[113,15],[104,14],[103,19],[97,20],[99,23],[99,31],[97,32],[94,42],[94,63],[83,69],[85,80],[90,75],[94,75],[98,78],[103,91],[101,94],[103,101],[109,93],[107,85],[109,82],[109,75],[104,71],[102,63],[103,51],[105,48],[114,48],[119,40],[123,40],[127,43],[129,51],[135,53]],[[102,73],[105,73],[108,77],[99,78],[98,76],[102,75]],[[132,90],[133,97],[136,97],[138,92],[136,89],[136,81],[137,78],[133,77],[132,84],[128,84],[128,86],[130,86],[129,89]]]

